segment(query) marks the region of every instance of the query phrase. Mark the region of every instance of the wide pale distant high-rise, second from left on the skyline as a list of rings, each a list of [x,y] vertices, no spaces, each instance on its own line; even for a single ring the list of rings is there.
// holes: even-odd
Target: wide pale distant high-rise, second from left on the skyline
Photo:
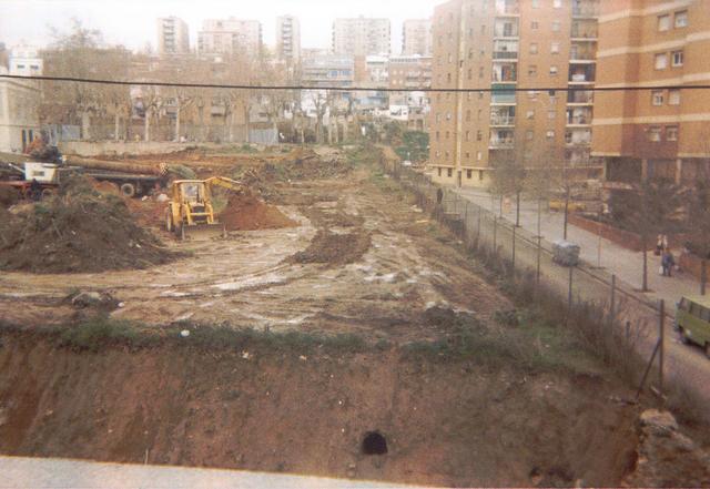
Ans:
[[[260,57],[262,24],[257,20],[207,19],[197,33],[200,55],[245,54]]]

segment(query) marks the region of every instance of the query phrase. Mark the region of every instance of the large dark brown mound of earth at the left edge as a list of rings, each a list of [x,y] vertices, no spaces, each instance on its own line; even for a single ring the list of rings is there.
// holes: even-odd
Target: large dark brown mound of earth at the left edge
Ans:
[[[32,204],[0,225],[0,269],[32,273],[146,268],[175,256],[133,220],[125,202],[88,182]]]

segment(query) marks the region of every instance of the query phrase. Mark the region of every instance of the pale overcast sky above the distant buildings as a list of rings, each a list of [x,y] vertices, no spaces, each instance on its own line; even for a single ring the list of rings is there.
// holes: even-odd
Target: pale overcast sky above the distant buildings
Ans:
[[[195,45],[203,19],[256,19],[264,43],[275,43],[276,16],[292,13],[301,20],[304,48],[331,45],[331,27],[337,17],[385,17],[392,20],[393,52],[402,48],[402,21],[428,18],[444,0],[0,0],[0,42],[24,41],[42,47],[51,42],[49,26],[68,30],[72,17],[99,29],[109,43],[142,49],[156,45],[155,18],[178,16],[190,26]]]

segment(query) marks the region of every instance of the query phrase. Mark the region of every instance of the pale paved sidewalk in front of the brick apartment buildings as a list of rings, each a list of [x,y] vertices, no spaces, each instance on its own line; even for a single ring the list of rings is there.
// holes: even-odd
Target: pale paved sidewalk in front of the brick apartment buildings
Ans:
[[[500,203],[495,200],[491,206],[490,194],[471,189],[452,189],[457,194],[468,201],[483,206],[486,210],[499,215]],[[515,223],[515,201],[509,208],[504,208],[504,218]],[[545,206],[540,220],[541,235],[549,242],[561,240],[564,235],[564,212],[550,212]],[[520,202],[520,226],[532,234],[537,234],[537,202]],[[601,266],[608,273],[616,274],[617,277],[636,289],[641,289],[643,254],[632,252],[609,240],[601,240],[601,253],[599,254],[599,236],[586,230],[568,224],[567,240],[580,246],[580,257],[592,266]],[[599,261],[599,256],[601,259]],[[676,253],[676,259],[678,254]],[[688,274],[674,273],[672,277],[663,277],[658,274],[660,257],[653,253],[648,253],[648,286],[651,289],[646,293],[649,299],[665,299],[667,310],[672,310],[676,303],[683,295],[698,295],[700,284]]]

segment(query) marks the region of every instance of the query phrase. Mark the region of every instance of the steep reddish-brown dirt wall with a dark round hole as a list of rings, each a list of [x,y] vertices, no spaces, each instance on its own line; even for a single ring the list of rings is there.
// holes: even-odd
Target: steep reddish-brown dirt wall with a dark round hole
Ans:
[[[0,335],[0,452],[459,486],[615,486],[635,414],[591,376],[397,350],[80,353]],[[362,452],[367,431],[388,452]]]

